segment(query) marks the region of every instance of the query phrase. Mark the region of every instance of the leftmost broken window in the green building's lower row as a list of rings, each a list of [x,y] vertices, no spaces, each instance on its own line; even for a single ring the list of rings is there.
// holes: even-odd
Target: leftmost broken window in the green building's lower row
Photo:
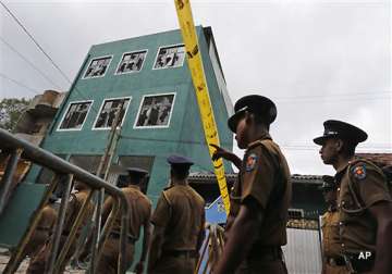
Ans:
[[[82,129],[93,101],[71,102],[59,129]]]

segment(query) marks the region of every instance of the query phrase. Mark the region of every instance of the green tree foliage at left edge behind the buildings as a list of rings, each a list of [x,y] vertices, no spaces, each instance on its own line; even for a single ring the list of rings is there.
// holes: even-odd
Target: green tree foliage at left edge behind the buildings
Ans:
[[[0,127],[11,132],[27,109],[30,99],[4,98],[0,101]]]

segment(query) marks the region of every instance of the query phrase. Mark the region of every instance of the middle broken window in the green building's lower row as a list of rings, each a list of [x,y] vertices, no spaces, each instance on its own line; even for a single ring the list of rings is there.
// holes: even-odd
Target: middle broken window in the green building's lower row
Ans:
[[[94,128],[108,129],[115,120],[115,114],[120,111],[119,124],[122,124],[131,98],[107,99],[99,111],[98,119]]]

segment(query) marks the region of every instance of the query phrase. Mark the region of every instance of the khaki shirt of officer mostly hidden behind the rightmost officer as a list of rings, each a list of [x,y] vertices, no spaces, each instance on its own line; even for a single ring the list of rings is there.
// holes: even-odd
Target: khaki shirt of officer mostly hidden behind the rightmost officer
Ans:
[[[338,210],[328,210],[321,216],[321,231],[322,231],[322,251],[323,257],[336,257],[341,254],[341,241],[339,237],[339,212]]]

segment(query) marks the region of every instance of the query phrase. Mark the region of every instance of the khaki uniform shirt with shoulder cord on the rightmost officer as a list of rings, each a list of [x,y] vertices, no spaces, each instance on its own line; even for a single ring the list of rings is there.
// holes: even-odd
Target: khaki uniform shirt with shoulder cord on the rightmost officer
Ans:
[[[348,252],[376,250],[377,222],[368,210],[350,213],[358,207],[348,189],[352,180],[354,191],[365,208],[379,201],[392,201],[382,171],[372,164],[356,161],[338,171],[335,175],[338,188],[338,208],[340,209],[340,240],[342,249]]]

